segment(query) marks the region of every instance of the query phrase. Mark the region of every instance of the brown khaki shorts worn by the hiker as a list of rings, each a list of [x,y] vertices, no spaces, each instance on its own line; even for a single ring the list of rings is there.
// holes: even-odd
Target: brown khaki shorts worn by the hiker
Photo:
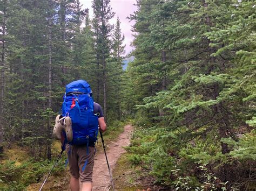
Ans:
[[[92,182],[92,171],[95,157],[95,147],[88,146],[89,155],[87,156],[86,145],[67,145],[70,173],[75,178],[80,178],[81,182]],[[88,159],[84,171],[85,161]]]

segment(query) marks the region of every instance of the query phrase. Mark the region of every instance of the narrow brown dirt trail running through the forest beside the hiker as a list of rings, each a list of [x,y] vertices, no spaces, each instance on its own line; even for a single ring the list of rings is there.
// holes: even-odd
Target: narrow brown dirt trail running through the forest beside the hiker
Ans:
[[[132,132],[131,125],[124,126],[124,132],[121,133],[116,142],[112,142],[107,148],[107,159],[109,161],[110,169],[114,168],[120,155],[125,150],[123,146],[130,144],[130,137]],[[93,190],[108,190],[111,186],[109,169],[107,168],[106,157],[104,151],[100,151],[95,157],[95,165],[93,168]]]

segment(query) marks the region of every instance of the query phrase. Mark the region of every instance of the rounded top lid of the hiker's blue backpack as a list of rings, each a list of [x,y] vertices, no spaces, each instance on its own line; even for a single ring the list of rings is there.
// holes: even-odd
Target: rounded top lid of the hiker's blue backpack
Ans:
[[[85,80],[77,80],[66,85],[66,94],[71,92],[91,94],[92,90],[89,83],[87,83]]]

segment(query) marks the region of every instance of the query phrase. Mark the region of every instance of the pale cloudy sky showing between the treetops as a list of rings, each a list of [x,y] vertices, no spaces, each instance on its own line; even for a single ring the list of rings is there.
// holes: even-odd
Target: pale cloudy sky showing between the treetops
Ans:
[[[89,16],[90,18],[93,17],[93,11],[92,11],[92,0],[80,0],[80,3],[83,5],[82,8],[88,8],[89,9]],[[129,19],[126,17],[130,16],[134,11],[136,11],[137,6],[133,5],[136,3],[136,0],[111,0],[110,4],[112,7],[112,11],[116,12],[116,15],[114,15],[114,18],[110,20],[111,24],[116,24],[117,16],[119,16],[120,22],[121,22],[121,30],[122,33],[125,36],[124,44],[125,47],[125,54],[128,54],[132,51],[132,47],[130,46],[133,36],[131,32],[131,25],[134,24],[134,22],[129,22]]]

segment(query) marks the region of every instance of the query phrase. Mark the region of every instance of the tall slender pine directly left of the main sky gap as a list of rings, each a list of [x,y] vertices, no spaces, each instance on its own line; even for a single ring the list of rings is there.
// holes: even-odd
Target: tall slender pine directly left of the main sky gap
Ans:
[[[113,29],[113,25],[109,23],[109,20],[113,18],[114,13],[112,12],[112,8],[110,6],[110,0],[94,0],[92,2],[92,8],[94,13],[92,26],[95,32],[95,51],[98,70],[97,76],[102,76],[102,80],[98,79],[97,82],[96,101],[100,102],[99,94],[100,89],[102,88],[104,115],[105,118],[107,118],[107,88],[109,85],[107,84],[107,80],[109,78],[108,71],[110,69],[110,36]]]

